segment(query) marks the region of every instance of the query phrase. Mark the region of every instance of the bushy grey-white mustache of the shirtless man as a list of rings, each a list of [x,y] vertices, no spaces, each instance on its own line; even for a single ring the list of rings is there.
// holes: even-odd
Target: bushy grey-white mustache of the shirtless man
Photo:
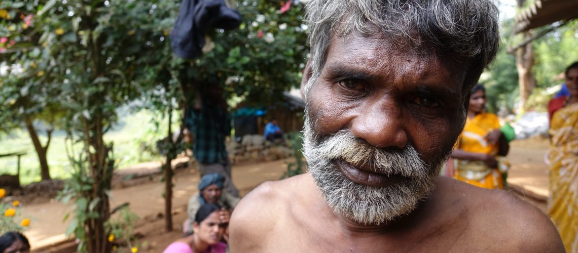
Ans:
[[[354,167],[370,168],[385,175],[401,175],[407,178],[427,176],[428,164],[412,145],[403,149],[380,149],[369,145],[363,139],[354,137],[350,130],[340,130],[315,141],[309,148],[310,155],[325,160],[342,160]]]

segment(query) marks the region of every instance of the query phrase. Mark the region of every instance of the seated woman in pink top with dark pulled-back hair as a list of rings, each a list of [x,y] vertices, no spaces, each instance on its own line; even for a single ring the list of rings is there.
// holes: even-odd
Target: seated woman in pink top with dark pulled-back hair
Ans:
[[[214,203],[202,205],[195,214],[192,232],[169,244],[163,253],[224,253],[227,244],[221,242],[221,239],[228,239],[224,235],[229,219],[221,214],[221,210],[223,208]]]

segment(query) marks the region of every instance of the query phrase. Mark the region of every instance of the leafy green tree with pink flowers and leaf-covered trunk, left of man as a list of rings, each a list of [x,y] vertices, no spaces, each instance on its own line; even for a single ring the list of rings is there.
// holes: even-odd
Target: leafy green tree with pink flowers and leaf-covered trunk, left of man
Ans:
[[[205,54],[192,61],[173,56],[168,42],[179,6],[179,1],[101,0],[0,4],[4,18],[0,37],[9,40],[0,45],[2,62],[22,69],[10,72],[14,81],[6,84],[10,93],[3,93],[0,106],[16,112],[12,105],[20,103],[20,97],[13,100],[13,96],[22,95],[19,85],[26,82],[31,85],[28,90],[39,95],[32,97],[39,112],[60,115],[46,110],[45,102],[64,112],[61,118],[75,170],[61,198],[75,203],[67,233],[80,240],[79,251],[110,251],[103,224],[110,217],[109,190],[116,165],[113,143],[103,137],[117,120],[116,108],[135,99],[154,100],[151,94],[156,94],[168,100],[153,105],[158,111],[183,110],[192,103],[198,85],[220,86],[226,97],[267,104],[299,84],[307,54],[301,4],[239,2],[243,24],[230,32],[208,31],[211,40]],[[281,12],[281,6],[291,7]],[[26,25],[17,27],[14,22]],[[75,150],[75,144],[82,149]],[[169,150],[168,214],[170,161],[177,148]]]

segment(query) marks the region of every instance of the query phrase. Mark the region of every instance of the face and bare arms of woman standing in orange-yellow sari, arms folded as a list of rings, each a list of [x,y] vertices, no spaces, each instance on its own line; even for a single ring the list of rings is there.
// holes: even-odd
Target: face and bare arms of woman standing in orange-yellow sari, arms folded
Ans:
[[[485,108],[486,108],[486,93],[484,92],[484,90],[477,90],[472,95],[470,95],[468,107],[468,119],[475,118],[475,116],[484,112]],[[499,129],[489,131],[484,136],[484,139],[486,139],[486,141],[490,145],[498,143],[499,156],[506,156],[510,150],[510,145],[506,141],[506,138],[503,136],[502,131],[500,131]],[[491,168],[498,167],[498,161],[496,160],[496,157],[493,154],[467,152],[462,149],[455,149],[451,153],[451,157],[462,160],[483,161]]]

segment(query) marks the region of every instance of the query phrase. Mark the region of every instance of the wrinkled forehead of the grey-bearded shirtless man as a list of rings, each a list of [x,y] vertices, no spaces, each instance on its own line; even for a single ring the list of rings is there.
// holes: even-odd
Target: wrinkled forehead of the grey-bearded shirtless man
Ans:
[[[383,35],[358,33],[332,36],[326,57],[322,72],[357,71],[359,75],[371,78],[372,75],[402,75],[409,71],[414,77],[460,81],[460,86],[468,66],[466,59],[453,59],[427,48],[397,43]]]

